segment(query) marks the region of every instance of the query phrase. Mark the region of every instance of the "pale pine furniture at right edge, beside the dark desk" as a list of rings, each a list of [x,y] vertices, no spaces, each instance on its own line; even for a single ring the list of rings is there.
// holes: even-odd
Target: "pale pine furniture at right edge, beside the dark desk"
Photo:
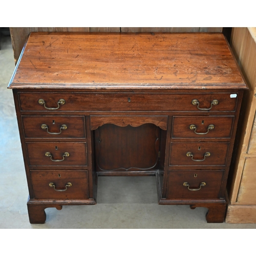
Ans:
[[[249,90],[241,109],[237,151],[230,168],[227,223],[256,223],[256,28],[233,28],[230,45]]]

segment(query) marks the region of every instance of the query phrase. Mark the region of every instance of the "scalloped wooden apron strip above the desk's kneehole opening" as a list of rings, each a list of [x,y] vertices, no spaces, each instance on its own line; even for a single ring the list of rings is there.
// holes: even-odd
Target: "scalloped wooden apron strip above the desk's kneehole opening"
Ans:
[[[103,124],[112,123],[121,127],[131,125],[140,126],[145,123],[153,123],[162,130],[167,130],[168,116],[90,116],[91,130],[96,130]]]

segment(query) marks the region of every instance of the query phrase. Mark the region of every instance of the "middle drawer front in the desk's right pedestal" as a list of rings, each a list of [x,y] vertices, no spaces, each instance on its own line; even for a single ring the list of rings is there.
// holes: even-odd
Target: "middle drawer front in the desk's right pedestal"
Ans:
[[[169,165],[225,165],[229,143],[171,143]]]

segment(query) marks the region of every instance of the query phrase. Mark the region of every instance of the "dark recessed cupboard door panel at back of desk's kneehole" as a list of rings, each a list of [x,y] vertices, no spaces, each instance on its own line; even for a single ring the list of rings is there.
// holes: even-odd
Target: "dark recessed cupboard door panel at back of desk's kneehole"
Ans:
[[[160,129],[154,124],[119,127],[104,124],[95,130],[97,171],[158,168]]]

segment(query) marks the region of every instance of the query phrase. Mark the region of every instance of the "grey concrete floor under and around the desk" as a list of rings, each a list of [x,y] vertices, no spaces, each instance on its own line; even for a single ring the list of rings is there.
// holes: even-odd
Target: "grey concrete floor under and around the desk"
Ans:
[[[45,224],[30,224],[28,189],[12,91],[11,39],[0,50],[0,228],[256,228],[256,224],[207,224],[206,208],[158,205],[155,177],[100,177],[97,205],[47,208]],[[121,193],[118,193],[121,191]]]

